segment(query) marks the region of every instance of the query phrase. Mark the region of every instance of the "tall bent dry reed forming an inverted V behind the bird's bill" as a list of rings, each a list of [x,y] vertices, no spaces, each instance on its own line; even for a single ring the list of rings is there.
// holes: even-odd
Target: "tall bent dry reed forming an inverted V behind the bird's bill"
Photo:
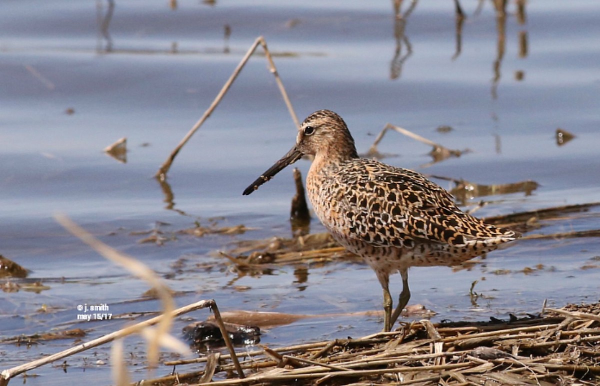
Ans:
[[[190,131],[188,131],[188,133],[185,134],[185,137],[179,142],[175,149],[173,149],[169,157],[158,169],[155,175],[157,179],[162,181],[166,179],[167,172],[169,171],[171,164],[175,160],[175,157],[179,153],[179,150],[181,150],[181,148],[184,147],[187,141],[190,140],[191,136],[194,135],[194,133],[197,131],[197,129],[200,128],[200,126],[202,126],[205,120],[208,119],[209,116],[211,116],[212,111],[214,111],[215,108],[217,108],[217,105],[221,102],[221,99],[223,99],[225,94],[227,94],[227,91],[229,91],[229,88],[232,86],[233,81],[235,81],[235,79],[238,77],[239,73],[242,71],[242,68],[244,68],[244,65],[248,62],[248,59],[250,59],[250,57],[252,56],[256,48],[259,46],[259,44],[263,47],[263,50],[265,50],[265,57],[269,63],[269,71],[271,71],[271,73],[275,76],[275,82],[277,82],[277,86],[279,88],[279,91],[281,92],[281,96],[283,97],[283,100],[287,105],[287,110],[289,110],[296,127],[300,126],[298,122],[298,117],[296,116],[296,113],[292,107],[292,103],[290,102],[290,99],[287,96],[286,89],[283,86],[283,82],[281,82],[281,78],[279,77],[279,74],[277,72],[277,67],[275,67],[275,62],[271,57],[271,52],[269,52],[269,49],[266,46],[265,38],[259,36],[256,38],[252,46],[250,46],[250,49],[248,49],[246,55],[244,55],[244,58],[242,58],[242,60],[239,62],[238,67],[236,67],[235,70],[233,70],[233,73],[231,74],[229,79],[227,79],[227,82],[225,82],[223,88],[221,88],[221,91],[219,91],[219,93],[217,94],[217,97],[215,97],[211,105],[206,109],[204,114],[202,114],[202,117],[200,117],[200,119],[194,124],[194,126],[192,126]]]

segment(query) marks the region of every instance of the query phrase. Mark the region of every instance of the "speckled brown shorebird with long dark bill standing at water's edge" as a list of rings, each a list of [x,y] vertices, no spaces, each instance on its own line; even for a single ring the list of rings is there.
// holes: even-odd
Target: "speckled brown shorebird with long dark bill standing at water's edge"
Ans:
[[[409,301],[409,267],[460,264],[519,237],[464,213],[447,191],[420,173],[360,158],[346,123],[329,110],[307,117],[294,147],[244,195],[305,154],[314,155],[306,181],[314,212],[337,242],[377,274],[384,331]],[[389,275],[395,272],[403,289],[392,313]]]

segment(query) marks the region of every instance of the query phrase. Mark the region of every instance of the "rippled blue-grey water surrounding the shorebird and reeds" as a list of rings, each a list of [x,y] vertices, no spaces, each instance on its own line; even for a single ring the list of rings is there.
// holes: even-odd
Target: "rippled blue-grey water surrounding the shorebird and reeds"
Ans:
[[[93,339],[128,320],[77,322],[77,305],[106,303],[114,315],[149,312],[148,288],[107,263],[53,219],[69,215],[103,242],[142,260],[164,277],[184,305],[215,298],[221,310],[329,314],[379,309],[379,283],[368,267],[337,263],[238,277],[215,251],[239,240],[290,235],[291,170],[250,197],[241,192],[292,145],[292,119],[265,60],[255,56],[169,173],[172,204],[152,176],[201,116],[258,35],[275,54],[301,117],[319,108],[340,113],[366,152],[391,122],[451,149],[460,158],[428,165],[430,147],[389,133],[379,146],[390,164],[485,185],[533,180],[531,192],[466,201],[495,216],[600,201],[598,63],[600,5],[585,1],[514,2],[505,18],[490,2],[463,1],[467,18],[457,43],[454,3],[263,1],[5,2],[0,14],[0,254],[29,269],[26,285],[43,291],[2,292],[0,337],[85,328]],[[224,36],[226,26],[230,35]],[[449,132],[437,130],[451,126]],[[559,145],[556,129],[574,139]],[[102,149],[128,138],[127,163]],[[307,161],[298,162],[305,174]],[[446,188],[454,184],[436,180]],[[600,209],[559,215],[531,233],[599,228]],[[194,237],[178,230],[216,223],[253,228],[233,236]],[[313,220],[311,231],[322,231]],[[162,245],[139,243],[162,232]],[[597,301],[597,237],[521,240],[470,270],[410,271],[412,303],[434,319],[503,318],[551,305]],[[596,258],[596,259],[595,259]],[[178,264],[176,264],[178,263]],[[533,269],[530,272],[526,268]],[[6,282],[7,279],[2,279]],[[469,288],[478,280],[473,303]],[[351,282],[353,285],[348,286]],[[400,280],[392,278],[393,291]],[[243,290],[243,291],[242,291]],[[46,307],[46,312],[40,312]],[[178,321],[179,330],[196,312]],[[263,334],[272,346],[362,336],[377,318],[303,319]],[[68,348],[72,340],[0,346],[2,369]],[[127,352],[143,345],[126,340]],[[28,384],[70,377],[106,384],[109,351],[46,366]],[[132,370],[133,371],[133,370]],[[136,366],[134,378],[145,376]]]

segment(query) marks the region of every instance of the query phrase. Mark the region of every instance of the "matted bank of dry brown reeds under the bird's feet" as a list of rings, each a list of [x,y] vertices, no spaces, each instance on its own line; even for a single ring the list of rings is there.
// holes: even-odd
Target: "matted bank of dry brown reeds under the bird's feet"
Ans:
[[[593,307],[593,312],[600,309],[598,304]],[[262,354],[238,353],[251,358],[242,366],[252,369],[254,375],[211,384],[462,385],[483,384],[487,380],[548,385],[598,381],[600,328],[593,328],[598,326],[596,315],[566,310],[557,313],[560,316],[467,327],[412,322],[403,324],[403,331],[361,339],[265,348]],[[490,328],[496,330],[486,331]],[[476,349],[460,349],[465,343]],[[577,357],[574,353],[578,353]],[[205,359],[199,358],[202,360]],[[219,370],[230,371],[232,365],[221,366]]]

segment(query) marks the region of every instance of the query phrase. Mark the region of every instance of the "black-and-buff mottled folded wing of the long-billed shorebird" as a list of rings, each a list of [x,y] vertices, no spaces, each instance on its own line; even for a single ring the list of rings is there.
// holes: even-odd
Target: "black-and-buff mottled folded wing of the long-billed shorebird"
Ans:
[[[339,206],[350,236],[373,245],[412,248],[418,241],[463,245],[482,228],[487,233],[497,229],[463,213],[445,189],[422,174],[371,159],[354,162],[336,176],[338,186],[352,186]]]

